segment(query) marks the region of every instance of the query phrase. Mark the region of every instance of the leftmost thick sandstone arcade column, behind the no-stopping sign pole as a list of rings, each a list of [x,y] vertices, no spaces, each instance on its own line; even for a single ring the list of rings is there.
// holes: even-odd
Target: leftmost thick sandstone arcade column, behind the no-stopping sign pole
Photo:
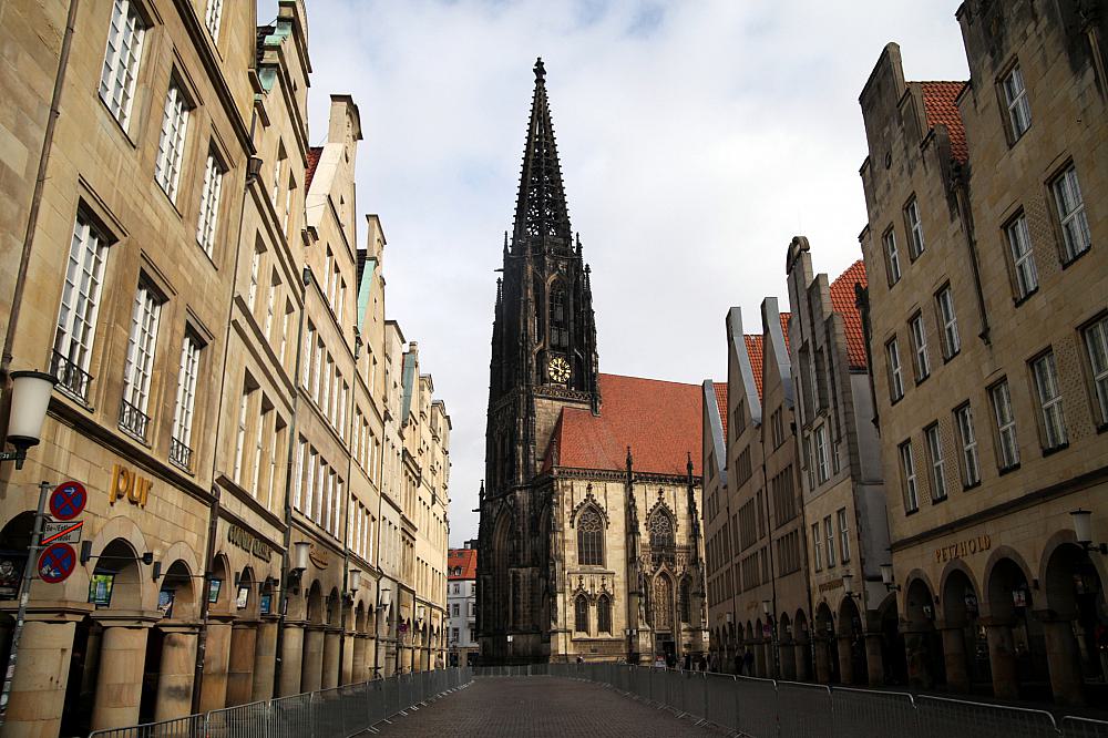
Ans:
[[[14,608],[4,609],[10,613]],[[19,639],[4,736],[57,736],[61,730],[73,635],[85,612],[28,613]]]

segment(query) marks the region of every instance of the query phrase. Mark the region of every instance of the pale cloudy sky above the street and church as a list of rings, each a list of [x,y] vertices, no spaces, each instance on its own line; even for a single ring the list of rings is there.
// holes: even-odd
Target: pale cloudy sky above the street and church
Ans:
[[[858,95],[885,43],[964,80],[957,0],[307,0],[309,139],[353,95],[358,208],[380,215],[387,317],[451,416],[450,544],[476,537],[496,274],[546,65],[601,370],[726,378],[724,318],[788,305],[786,248],[861,257]],[[258,22],[276,17],[260,0]],[[361,221],[359,221],[361,223]],[[365,233],[359,234],[363,238]]]

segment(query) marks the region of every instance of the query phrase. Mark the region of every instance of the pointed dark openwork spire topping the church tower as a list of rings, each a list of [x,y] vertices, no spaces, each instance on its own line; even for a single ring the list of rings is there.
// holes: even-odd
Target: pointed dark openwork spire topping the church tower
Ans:
[[[524,247],[534,252],[573,248],[562,167],[546,99],[546,68],[541,58],[535,62],[535,94],[515,203],[513,250]]]

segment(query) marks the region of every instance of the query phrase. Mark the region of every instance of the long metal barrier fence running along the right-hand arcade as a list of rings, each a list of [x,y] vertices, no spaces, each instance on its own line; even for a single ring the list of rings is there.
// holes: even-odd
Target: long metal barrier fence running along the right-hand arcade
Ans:
[[[604,684],[750,738],[897,736],[1108,738],[1108,721],[1057,720],[1046,710],[903,691],[828,687],[627,664],[534,664],[473,669],[475,676],[555,676]]]

